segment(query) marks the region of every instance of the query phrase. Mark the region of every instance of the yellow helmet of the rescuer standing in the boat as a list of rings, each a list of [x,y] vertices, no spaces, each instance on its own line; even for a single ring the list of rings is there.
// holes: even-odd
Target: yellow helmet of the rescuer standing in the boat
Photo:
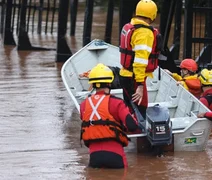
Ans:
[[[136,6],[136,16],[150,18],[152,21],[157,16],[157,5],[152,0],[140,0]]]

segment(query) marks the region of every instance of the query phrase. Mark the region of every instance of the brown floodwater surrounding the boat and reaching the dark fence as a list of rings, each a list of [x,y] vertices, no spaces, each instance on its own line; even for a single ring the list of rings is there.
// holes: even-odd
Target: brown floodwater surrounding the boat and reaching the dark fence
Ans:
[[[104,37],[101,18],[94,18],[92,39]],[[68,37],[73,51],[82,46],[82,26],[81,15],[76,36]],[[54,47],[56,42],[54,34],[30,38],[34,45]],[[79,115],[62,83],[63,63],[55,62],[55,51],[17,51],[0,44],[0,179],[211,179],[212,139],[204,152],[167,153],[160,158],[137,154],[130,144],[127,169],[87,168],[88,150],[79,141]]]

